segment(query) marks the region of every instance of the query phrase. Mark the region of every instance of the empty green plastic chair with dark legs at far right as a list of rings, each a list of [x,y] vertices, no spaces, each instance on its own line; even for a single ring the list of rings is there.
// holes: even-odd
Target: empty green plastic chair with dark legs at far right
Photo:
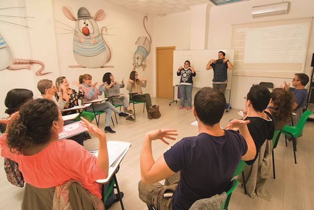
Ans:
[[[284,126],[284,128],[282,129],[282,134],[285,135],[285,140],[287,141],[287,137],[286,136],[290,136],[292,137],[292,144],[293,144],[293,154],[294,154],[294,158],[295,158],[295,164],[296,164],[296,156],[295,156],[295,152],[296,152],[296,144],[295,144],[295,138],[299,137],[303,127],[306,123],[307,118],[309,118],[309,116],[312,114],[312,112],[310,110],[306,110],[305,112],[303,112],[303,114],[301,115],[298,123],[295,126]]]

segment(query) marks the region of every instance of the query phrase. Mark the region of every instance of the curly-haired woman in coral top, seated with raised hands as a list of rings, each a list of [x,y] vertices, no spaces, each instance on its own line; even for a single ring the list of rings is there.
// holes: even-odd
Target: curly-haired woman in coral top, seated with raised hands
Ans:
[[[47,111],[49,110],[49,111]],[[24,181],[37,188],[59,186],[68,180],[80,181],[91,194],[101,198],[95,181],[108,176],[106,135],[84,118],[82,123],[99,139],[98,157],[75,141],[59,141],[63,129],[61,111],[47,99],[30,100],[21,106],[19,116],[0,137],[1,156],[19,164]],[[25,191],[26,192],[26,191]],[[112,191],[110,201],[116,201]]]

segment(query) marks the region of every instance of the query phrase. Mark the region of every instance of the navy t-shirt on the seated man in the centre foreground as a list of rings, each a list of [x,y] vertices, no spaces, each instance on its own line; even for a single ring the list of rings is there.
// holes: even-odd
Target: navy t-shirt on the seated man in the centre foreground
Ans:
[[[173,145],[164,153],[169,168],[181,173],[171,200],[172,210],[189,209],[198,199],[227,191],[246,151],[245,139],[232,130],[225,130],[219,137],[200,133]]]

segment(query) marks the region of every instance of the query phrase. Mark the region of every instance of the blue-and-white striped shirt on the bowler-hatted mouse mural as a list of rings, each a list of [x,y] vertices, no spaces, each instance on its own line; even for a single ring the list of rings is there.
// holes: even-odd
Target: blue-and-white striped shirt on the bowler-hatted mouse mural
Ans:
[[[96,36],[96,43],[92,44],[92,38],[84,38],[84,43],[78,41],[77,38],[73,39],[73,52],[82,56],[95,56],[106,50],[104,40],[101,34]]]

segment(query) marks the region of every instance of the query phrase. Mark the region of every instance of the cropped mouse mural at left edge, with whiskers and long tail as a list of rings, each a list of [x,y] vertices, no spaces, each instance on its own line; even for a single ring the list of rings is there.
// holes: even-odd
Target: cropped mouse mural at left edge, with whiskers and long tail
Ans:
[[[25,7],[8,7],[8,8],[0,8],[0,11],[5,11],[6,9],[24,9]],[[15,18],[28,18],[28,17],[19,17],[19,16],[5,16],[0,15],[3,17],[15,17]],[[30,27],[17,24],[14,22],[4,21],[0,20],[0,23],[5,24],[12,24],[18,27],[24,27],[29,29]],[[8,37],[8,36],[7,36]],[[9,40],[11,41],[11,40]],[[14,41],[14,40],[12,40]],[[21,70],[21,69],[30,69],[32,64],[39,64],[41,67],[36,71],[36,76],[43,76],[46,74],[50,74],[51,72],[45,72],[43,73],[43,70],[45,68],[45,64],[38,60],[32,60],[32,59],[22,59],[22,58],[14,58],[13,53],[8,45],[8,43],[4,40],[3,36],[0,34],[0,71],[4,69],[8,70]]]

